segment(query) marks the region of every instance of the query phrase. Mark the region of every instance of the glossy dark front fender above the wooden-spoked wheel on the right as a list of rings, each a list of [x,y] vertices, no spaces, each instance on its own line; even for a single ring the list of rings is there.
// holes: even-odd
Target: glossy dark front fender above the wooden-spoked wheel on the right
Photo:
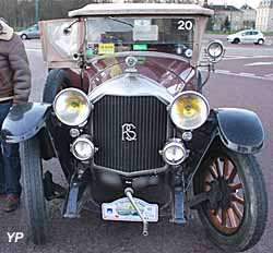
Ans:
[[[218,134],[224,145],[241,154],[258,153],[264,141],[259,117],[250,110],[225,108],[216,111]]]

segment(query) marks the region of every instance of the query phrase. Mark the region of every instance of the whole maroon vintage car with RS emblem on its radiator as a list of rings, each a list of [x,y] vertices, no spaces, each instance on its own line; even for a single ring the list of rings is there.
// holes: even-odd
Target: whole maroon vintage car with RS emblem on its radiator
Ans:
[[[21,144],[34,243],[47,239],[47,202],[61,197],[66,218],[80,217],[87,197],[104,220],[143,222],[143,236],[163,209],[180,225],[197,209],[228,252],[260,240],[268,200],[253,155],[264,132],[254,112],[210,108],[202,95],[225,53],[221,41],[202,45],[212,14],[194,4],[88,4],[39,23],[43,103],[15,106],[2,128]],[[52,157],[68,188],[43,171]]]

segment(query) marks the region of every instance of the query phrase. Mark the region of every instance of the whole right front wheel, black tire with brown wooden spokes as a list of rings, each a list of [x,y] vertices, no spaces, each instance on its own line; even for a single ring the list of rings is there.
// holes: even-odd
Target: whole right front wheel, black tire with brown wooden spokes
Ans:
[[[252,248],[268,217],[263,176],[252,155],[219,147],[209,153],[194,178],[194,193],[216,193],[199,207],[212,241],[228,252]]]

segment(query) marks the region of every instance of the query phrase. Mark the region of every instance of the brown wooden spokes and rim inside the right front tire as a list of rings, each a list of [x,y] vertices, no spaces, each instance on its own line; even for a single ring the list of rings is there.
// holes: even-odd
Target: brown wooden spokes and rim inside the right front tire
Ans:
[[[245,197],[244,184],[229,158],[215,157],[212,160],[205,171],[203,190],[218,193],[218,198],[207,208],[215,228],[225,234],[234,233],[244,218]]]

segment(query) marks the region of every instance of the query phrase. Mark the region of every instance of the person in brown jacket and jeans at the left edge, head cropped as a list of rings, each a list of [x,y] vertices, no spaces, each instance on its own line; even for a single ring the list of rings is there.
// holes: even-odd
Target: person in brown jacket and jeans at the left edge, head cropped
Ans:
[[[24,44],[4,19],[0,17],[0,129],[10,109],[27,103],[31,93],[31,70]],[[19,144],[1,141],[0,202],[4,212],[20,205],[21,162]]]

